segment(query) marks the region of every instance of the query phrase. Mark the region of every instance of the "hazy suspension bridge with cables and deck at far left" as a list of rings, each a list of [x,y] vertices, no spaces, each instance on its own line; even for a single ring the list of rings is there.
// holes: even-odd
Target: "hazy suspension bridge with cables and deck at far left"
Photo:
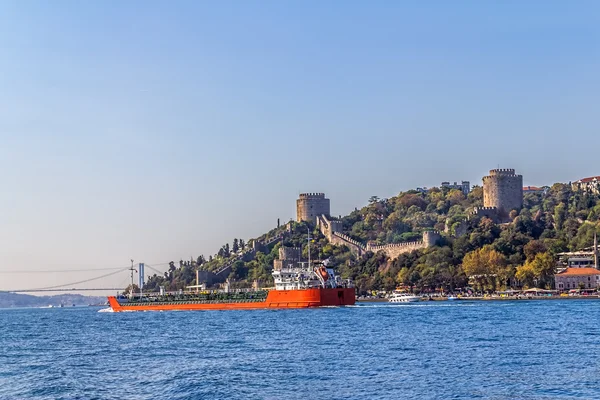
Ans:
[[[133,260],[132,260],[132,262],[133,262]],[[164,265],[169,265],[169,263],[168,262],[153,263],[153,264],[144,263],[144,268],[148,268],[148,269],[154,271],[156,274],[162,275],[164,273],[164,271],[160,271],[158,269],[158,267],[164,266]],[[79,280],[76,282],[69,282],[69,283],[60,284],[60,285],[27,288],[27,289],[9,289],[9,290],[0,290],[0,291],[1,292],[9,292],[9,293],[120,291],[120,290],[125,290],[125,288],[131,284],[130,278],[132,279],[133,272],[137,272],[138,270],[135,269],[134,265],[132,264],[129,267],[119,267],[119,268],[96,268],[96,269],[88,268],[88,269],[36,270],[36,271],[32,271],[32,270],[0,271],[0,275],[9,275],[9,274],[41,275],[41,274],[59,274],[59,273],[73,274],[73,273],[91,273],[91,272],[100,272],[100,271],[102,271],[102,272],[112,271],[112,272],[104,273],[100,276],[94,276],[93,278],[83,279],[83,280]],[[114,275],[118,275],[118,274],[123,274],[125,272],[127,272],[127,275],[128,275],[127,283],[123,284],[120,287],[114,287],[114,286],[117,286],[114,284],[112,284],[112,285],[106,284],[106,278],[114,276]],[[129,276],[130,274],[131,274],[131,276]],[[102,284],[103,280],[105,282],[104,284]],[[98,284],[98,286],[89,287],[88,285],[85,285],[90,282],[96,282]],[[80,285],[85,285],[85,286],[80,286]]]

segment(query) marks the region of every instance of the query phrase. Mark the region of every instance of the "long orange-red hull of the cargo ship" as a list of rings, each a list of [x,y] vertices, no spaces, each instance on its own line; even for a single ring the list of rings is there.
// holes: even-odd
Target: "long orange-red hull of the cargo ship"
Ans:
[[[192,311],[192,310],[255,310],[311,307],[350,306],[355,303],[354,288],[271,290],[264,301],[224,302],[167,302],[159,304],[121,304],[110,296],[108,303],[113,311]]]

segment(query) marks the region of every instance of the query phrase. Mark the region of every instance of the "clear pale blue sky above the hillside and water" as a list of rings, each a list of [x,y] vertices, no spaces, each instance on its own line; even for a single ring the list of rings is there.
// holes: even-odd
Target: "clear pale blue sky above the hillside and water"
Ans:
[[[0,271],[208,255],[300,192],[600,175],[598,71],[595,1],[5,0]]]

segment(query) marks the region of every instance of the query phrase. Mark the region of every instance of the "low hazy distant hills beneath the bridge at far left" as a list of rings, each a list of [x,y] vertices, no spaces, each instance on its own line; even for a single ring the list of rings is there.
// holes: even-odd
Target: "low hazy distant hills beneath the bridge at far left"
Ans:
[[[32,296],[29,294],[18,294],[0,292],[0,308],[14,307],[46,307],[49,305],[60,307],[83,306],[89,304],[104,304],[106,297],[82,296],[80,294],[59,294],[54,296]]]

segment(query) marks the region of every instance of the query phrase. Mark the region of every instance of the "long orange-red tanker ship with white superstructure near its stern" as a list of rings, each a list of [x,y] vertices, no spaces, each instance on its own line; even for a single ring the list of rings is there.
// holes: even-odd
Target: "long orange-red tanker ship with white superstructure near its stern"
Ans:
[[[133,296],[110,296],[113,311],[248,310],[337,307],[354,305],[352,282],[336,276],[324,265],[287,267],[273,271],[275,287],[263,290],[197,291]]]

